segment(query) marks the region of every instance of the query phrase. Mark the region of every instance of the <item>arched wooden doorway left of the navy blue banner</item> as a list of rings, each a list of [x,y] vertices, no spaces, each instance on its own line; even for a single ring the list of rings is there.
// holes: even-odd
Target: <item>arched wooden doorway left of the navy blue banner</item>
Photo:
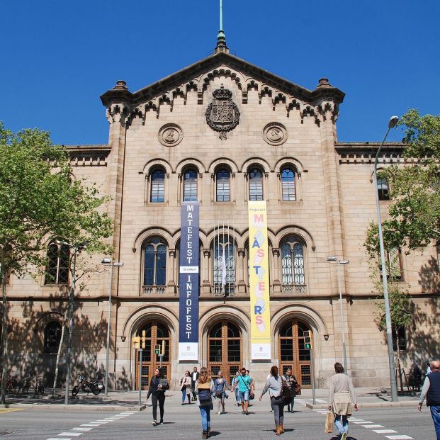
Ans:
[[[168,326],[160,321],[147,322],[146,325],[140,327],[136,336],[142,337],[142,331],[145,331],[145,349],[142,350],[141,388],[142,390],[147,390],[150,385],[150,379],[154,374],[154,370],[160,365],[159,356],[154,353],[154,346],[160,345],[162,347],[162,341],[165,342],[165,353],[162,358],[162,371],[164,377],[171,380],[171,354],[169,351],[171,338]],[[139,373],[140,351],[136,350],[136,390],[139,389]]]

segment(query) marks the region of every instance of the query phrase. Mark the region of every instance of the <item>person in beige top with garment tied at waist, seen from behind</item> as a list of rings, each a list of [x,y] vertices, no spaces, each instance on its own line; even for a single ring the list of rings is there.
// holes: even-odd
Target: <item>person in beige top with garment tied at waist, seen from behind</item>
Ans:
[[[356,411],[359,410],[358,402],[351,378],[344,374],[342,364],[335,363],[334,371],[336,374],[329,379],[329,410],[333,412],[334,424],[341,435],[340,440],[346,440],[349,435],[348,417],[351,416],[351,400]]]

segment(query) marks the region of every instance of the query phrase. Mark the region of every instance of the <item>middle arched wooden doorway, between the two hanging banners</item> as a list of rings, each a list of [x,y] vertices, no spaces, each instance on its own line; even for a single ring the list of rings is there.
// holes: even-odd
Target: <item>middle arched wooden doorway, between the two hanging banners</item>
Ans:
[[[242,333],[228,320],[215,322],[208,332],[208,369],[216,378],[219,371],[231,383],[242,366]]]

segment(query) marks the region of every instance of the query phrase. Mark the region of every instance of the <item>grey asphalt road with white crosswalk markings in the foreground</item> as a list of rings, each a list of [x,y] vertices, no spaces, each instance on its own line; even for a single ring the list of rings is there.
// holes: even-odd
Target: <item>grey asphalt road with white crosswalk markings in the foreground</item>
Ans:
[[[265,396],[266,397],[266,396]],[[324,434],[325,415],[310,410],[305,400],[297,399],[294,414],[286,414],[284,439],[330,440]],[[227,413],[212,412],[213,439],[276,439],[269,400],[255,402],[249,415],[227,402]],[[352,440],[433,440],[429,409],[419,413],[416,407],[370,408],[356,412],[350,424]],[[40,409],[0,410],[0,436],[5,440],[97,440],[97,439],[201,439],[198,406],[181,406],[179,397],[168,397],[164,424],[153,427],[151,407],[142,412]],[[395,432],[393,432],[395,431]]]

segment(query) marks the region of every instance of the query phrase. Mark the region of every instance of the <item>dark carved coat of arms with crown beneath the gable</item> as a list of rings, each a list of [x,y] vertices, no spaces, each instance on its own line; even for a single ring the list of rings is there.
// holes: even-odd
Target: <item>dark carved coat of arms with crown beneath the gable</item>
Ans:
[[[213,102],[206,108],[206,122],[215,131],[220,132],[220,139],[226,139],[226,132],[233,130],[239,123],[240,112],[232,101],[232,91],[222,86],[213,91]]]

